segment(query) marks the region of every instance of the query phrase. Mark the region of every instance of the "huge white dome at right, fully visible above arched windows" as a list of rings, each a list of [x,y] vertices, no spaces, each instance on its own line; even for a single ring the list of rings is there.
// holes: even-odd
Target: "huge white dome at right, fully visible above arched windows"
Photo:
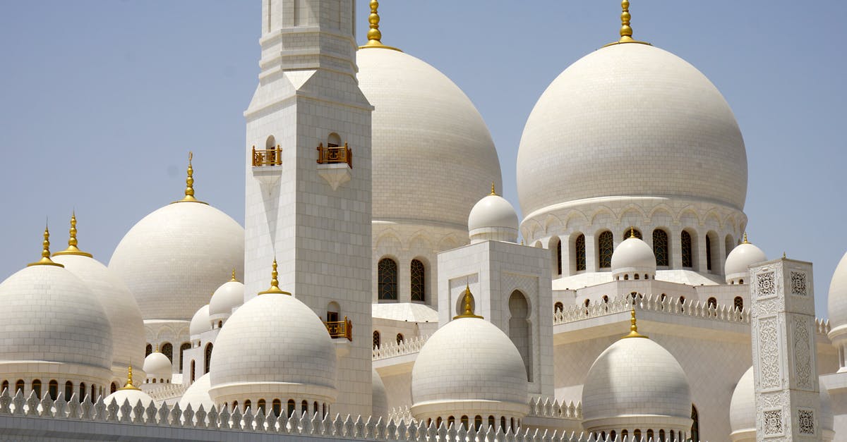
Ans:
[[[517,179],[527,218],[600,196],[683,196],[741,210],[747,156],[705,75],[658,47],[619,44],[547,87],[523,129]]]

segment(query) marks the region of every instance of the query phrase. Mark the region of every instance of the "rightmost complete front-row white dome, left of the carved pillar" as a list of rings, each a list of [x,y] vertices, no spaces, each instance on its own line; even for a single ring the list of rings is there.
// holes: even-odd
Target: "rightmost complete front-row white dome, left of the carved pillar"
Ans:
[[[645,338],[617,340],[597,356],[585,377],[582,406],[586,431],[620,431],[637,422],[640,428],[688,432],[692,422],[683,368]]]

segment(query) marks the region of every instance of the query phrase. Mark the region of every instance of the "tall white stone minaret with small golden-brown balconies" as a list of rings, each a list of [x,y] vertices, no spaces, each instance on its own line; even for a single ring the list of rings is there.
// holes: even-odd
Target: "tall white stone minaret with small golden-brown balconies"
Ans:
[[[265,288],[275,256],[280,287],[333,323],[332,413],[354,416],[371,412],[373,110],[356,80],[355,9],[263,1],[259,85],[244,113],[245,298]]]

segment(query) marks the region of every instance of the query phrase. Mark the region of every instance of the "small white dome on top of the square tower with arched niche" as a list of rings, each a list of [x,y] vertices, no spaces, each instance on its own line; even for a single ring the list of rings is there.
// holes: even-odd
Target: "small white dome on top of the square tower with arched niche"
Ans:
[[[506,198],[492,193],[479,200],[468,215],[471,242],[518,240],[518,213]]]

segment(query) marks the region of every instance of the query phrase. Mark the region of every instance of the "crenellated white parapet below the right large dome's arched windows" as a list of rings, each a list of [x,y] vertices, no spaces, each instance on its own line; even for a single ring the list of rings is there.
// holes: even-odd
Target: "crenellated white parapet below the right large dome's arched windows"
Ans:
[[[637,300],[634,302],[634,300]],[[726,305],[708,305],[701,301],[679,301],[679,298],[661,295],[632,295],[618,296],[608,302],[590,305],[589,307],[570,306],[553,313],[553,325],[575,323],[584,319],[600,318],[603,316],[629,312],[635,308],[645,312],[657,312],[674,316],[703,318],[726,323],[750,324],[750,311],[736,309]],[[829,321],[816,319],[817,334],[828,334]]]

